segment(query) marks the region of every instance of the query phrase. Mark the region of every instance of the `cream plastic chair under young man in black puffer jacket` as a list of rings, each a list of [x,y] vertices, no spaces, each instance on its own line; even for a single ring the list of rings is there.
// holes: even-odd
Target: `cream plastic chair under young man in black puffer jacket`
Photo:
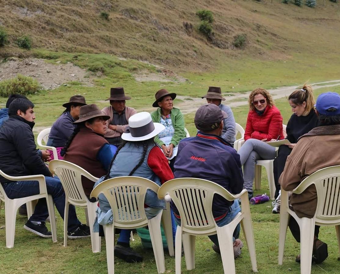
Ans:
[[[0,170],[0,175],[6,178],[7,180],[11,180],[11,181],[38,181],[39,190],[40,190],[40,193],[37,195],[32,195],[32,196],[28,196],[24,198],[10,199],[7,197],[2,187],[2,184],[0,183],[0,199],[5,202],[6,247],[7,248],[14,247],[15,222],[16,222],[16,215],[17,215],[16,213],[17,213],[18,208],[24,203],[27,203],[27,205],[29,206],[31,201],[37,200],[40,198],[46,198],[48,213],[50,215],[52,240],[53,242],[56,242],[57,233],[56,233],[54,204],[53,204],[52,196],[47,194],[45,177],[43,175],[14,177],[14,176],[9,176],[3,173],[1,170]],[[29,207],[27,209],[29,210]],[[32,213],[28,212],[28,215],[31,216]]]

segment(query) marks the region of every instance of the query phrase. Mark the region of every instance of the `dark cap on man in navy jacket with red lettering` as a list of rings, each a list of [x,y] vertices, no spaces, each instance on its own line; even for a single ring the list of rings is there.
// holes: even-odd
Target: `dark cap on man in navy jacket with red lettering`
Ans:
[[[228,115],[213,104],[204,104],[198,108],[195,114],[195,126],[201,131],[212,131],[218,128],[221,121]]]

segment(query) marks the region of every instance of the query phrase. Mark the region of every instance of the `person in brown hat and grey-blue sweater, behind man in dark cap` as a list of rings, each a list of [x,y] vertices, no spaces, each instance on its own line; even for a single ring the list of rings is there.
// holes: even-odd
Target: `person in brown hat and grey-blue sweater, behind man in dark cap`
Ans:
[[[208,92],[206,95],[202,96],[202,99],[206,98],[208,103],[213,103],[217,105],[220,110],[224,111],[227,114],[227,118],[223,119],[223,131],[222,138],[227,142],[234,144],[235,142],[235,119],[231,108],[227,105],[223,105],[221,102],[225,101],[225,98],[222,97],[222,92],[220,87],[209,86]]]

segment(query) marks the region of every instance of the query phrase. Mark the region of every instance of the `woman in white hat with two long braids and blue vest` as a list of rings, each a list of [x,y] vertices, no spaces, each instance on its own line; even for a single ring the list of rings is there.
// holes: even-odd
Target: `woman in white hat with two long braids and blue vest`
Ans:
[[[140,112],[129,118],[129,130],[122,134],[123,144],[116,151],[106,176],[100,178],[94,185],[102,181],[119,176],[139,176],[147,178],[159,186],[173,179],[173,173],[167,158],[155,144],[154,137],[164,130],[165,126],[152,122],[148,112]],[[112,223],[111,207],[103,194],[98,196],[99,209],[95,231],[99,231],[99,224]],[[155,217],[160,210],[165,209],[165,201],[159,200],[157,193],[148,190],[145,199],[145,212],[149,219]],[[173,226],[175,227],[174,216]],[[173,230],[174,231],[174,230]],[[127,262],[140,262],[143,257],[130,248],[131,230],[121,230],[115,246],[115,256]],[[175,237],[173,237],[175,239]]]

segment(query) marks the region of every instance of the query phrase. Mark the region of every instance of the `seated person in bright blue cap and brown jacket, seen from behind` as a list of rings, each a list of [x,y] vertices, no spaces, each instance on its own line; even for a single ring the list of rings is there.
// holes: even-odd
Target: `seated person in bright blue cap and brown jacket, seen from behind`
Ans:
[[[292,191],[303,179],[314,172],[340,164],[340,95],[326,92],[319,95],[316,103],[319,126],[302,135],[291,154],[287,157],[285,169],[279,183],[285,191]],[[313,218],[317,207],[317,192],[312,184],[301,194],[292,194],[290,204],[300,218]],[[297,242],[300,242],[300,228],[294,218],[289,219],[289,229]],[[316,263],[327,256],[327,244],[318,239],[320,226],[315,226],[313,257]],[[295,259],[300,262],[300,255]]]

